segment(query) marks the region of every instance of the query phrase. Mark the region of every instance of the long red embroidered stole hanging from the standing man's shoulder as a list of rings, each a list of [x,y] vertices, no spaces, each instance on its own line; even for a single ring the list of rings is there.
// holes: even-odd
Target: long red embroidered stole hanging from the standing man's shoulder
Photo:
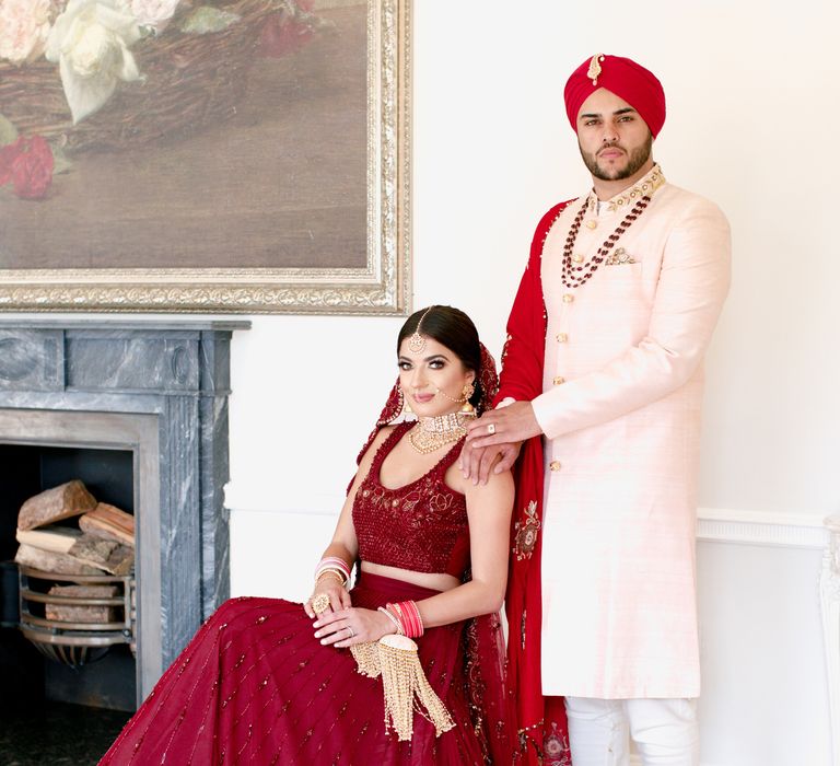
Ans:
[[[502,351],[502,373],[494,404],[505,397],[530,402],[542,393],[547,315],[540,262],[548,231],[569,201],[552,207],[534,233],[528,265],[508,320],[508,339]],[[522,445],[514,468],[516,501],[505,600],[508,680],[515,699],[521,763],[568,766],[571,756],[563,699],[542,696],[540,674],[542,466],[542,438],[534,437]]]

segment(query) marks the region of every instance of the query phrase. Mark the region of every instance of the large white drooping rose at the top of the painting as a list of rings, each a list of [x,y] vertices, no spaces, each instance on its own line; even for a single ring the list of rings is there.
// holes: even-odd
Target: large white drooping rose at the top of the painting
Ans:
[[[124,0],[69,0],[49,33],[46,56],[59,63],[73,124],[102,108],[119,80],[141,79],[129,50],[141,36]]]

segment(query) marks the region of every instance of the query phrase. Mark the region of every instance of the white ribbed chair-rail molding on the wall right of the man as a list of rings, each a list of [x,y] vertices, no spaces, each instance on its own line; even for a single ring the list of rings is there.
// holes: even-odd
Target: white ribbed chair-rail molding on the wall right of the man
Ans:
[[[697,538],[709,543],[824,549],[829,542],[825,514],[699,508]]]

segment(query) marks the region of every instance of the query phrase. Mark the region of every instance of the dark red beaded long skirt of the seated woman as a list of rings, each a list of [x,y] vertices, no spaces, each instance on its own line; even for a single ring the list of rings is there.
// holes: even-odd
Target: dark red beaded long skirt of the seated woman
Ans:
[[[363,573],[355,606],[436,591]],[[347,649],[322,646],[301,604],[241,597],[201,626],[126,724],[101,766],[470,766],[513,761],[498,616],[417,639],[430,684],[456,726],[435,736],[415,715],[410,742],[385,731],[382,681]]]

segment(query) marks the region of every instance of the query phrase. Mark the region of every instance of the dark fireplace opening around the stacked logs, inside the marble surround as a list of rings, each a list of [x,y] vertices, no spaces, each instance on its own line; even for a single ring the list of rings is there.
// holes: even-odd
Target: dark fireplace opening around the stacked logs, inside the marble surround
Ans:
[[[45,490],[80,480],[100,503],[133,514],[133,452],[86,445],[2,443],[0,466],[0,677],[7,682],[13,680],[9,688],[15,690],[14,710],[18,713],[28,710],[35,717],[43,717],[46,710],[60,710],[60,704],[71,704],[89,709],[133,711],[137,706],[137,662],[128,620],[128,615],[133,616],[132,591],[129,592],[132,588],[129,581],[133,580],[128,574],[133,572],[124,572],[127,576],[121,579],[109,577],[106,571],[101,572],[102,578],[90,573],[86,577],[65,573],[43,578],[38,569],[13,562],[19,548],[15,533],[20,509],[27,499]],[[78,531],[79,519],[63,519],[50,527]],[[58,599],[48,595],[50,592],[67,593],[68,587],[70,595],[59,595]],[[93,589],[97,597],[86,602],[73,597],[79,595],[75,591],[80,588]],[[106,597],[96,592],[96,588],[105,588]],[[121,611],[118,608],[120,600],[125,602]],[[56,601],[67,602],[69,605],[61,604],[65,610],[77,610],[70,616],[58,616],[59,620],[68,620],[67,630],[65,624],[56,623],[56,615],[47,611],[56,608]],[[77,605],[82,602],[84,606]],[[107,615],[97,618],[101,623],[95,630],[100,632],[85,630],[84,623],[72,622],[79,619],[74,615],[80,608],[82,612],[100,610],[101,614]],[[89,616],[81,619],[93,622]],[[120,625],[120,622],[125,624]],[[120,638],[120,631],[125,639]],[[59,637],[54,638],[55,635]],[[116,636],[116,639],[109,642],[102,636]],[[4,703],[12,701],[9,695],[3,697]]]

